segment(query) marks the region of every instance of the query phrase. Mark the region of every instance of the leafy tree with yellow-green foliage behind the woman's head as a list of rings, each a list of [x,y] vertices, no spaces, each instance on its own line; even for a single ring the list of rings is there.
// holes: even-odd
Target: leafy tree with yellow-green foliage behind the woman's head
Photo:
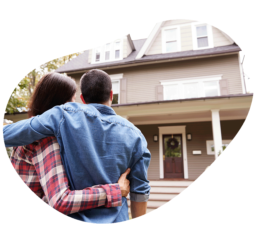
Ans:
[[[30,99],[38,80],[47,72],[58,69],[60,66],[64,65],[79,54],[82,54],[82,52],[53,59],[28,73],[14,89],[6,106],[5,112],[13,114],[14,112],[27,111],[28,100]]]

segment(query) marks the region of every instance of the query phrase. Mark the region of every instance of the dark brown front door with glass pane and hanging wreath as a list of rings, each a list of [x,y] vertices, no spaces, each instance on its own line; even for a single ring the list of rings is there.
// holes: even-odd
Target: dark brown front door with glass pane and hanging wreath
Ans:
[[[163,135],[164,178],[184,178],[182,135]]]

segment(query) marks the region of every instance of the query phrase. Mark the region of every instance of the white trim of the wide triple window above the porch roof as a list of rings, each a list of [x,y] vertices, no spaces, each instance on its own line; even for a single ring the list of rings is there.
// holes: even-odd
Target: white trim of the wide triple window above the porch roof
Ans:
[[[198,83],[198,96],[200,98],[200,97],[205,97],[204,85],[203,85],[204,82],[210,82],[210,81],[217,81],[218,96],[220,96],[220,80],[221,79],[222,79],[222,74],[221,75],[213,75],[213,76],[201,76],[201,77],[195,77],[195,78],[160,80],[159,82],[161,85],[163,85],[163,88],[166,85],[178,85],[179,97],[180,97],[180,99],[185,99],[184,91],[183,91],[183,84]],[[164,92],[163,92],[163,99],[164,100],[167,99]]]

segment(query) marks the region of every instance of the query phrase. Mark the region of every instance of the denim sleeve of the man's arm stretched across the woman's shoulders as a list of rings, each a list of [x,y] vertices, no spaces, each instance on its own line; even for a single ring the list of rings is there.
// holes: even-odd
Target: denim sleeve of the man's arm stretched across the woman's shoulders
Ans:
[[[61,106],[56,106],[42,115],[3,126],[5,146],[23,146],[47,136],[56,136],[62,110]]]

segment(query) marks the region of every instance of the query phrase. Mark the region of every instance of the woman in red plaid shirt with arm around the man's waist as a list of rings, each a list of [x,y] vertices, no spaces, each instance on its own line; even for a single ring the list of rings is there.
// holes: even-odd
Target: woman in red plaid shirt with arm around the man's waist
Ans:
[[[40,115],[54,106],[69,101],[75,102],[75,98],[74,79],[60,73],[47,73],[35,87],[28,104],[28,117]],[[56,137],[46,137],[30,145],[14,147],[10,160],[27,186],[43,201],[63,214],[101,205],[122,205],[121,196],[126,197],[130,189],[129,181],[126,179],[130,168],[121,175],[118,184],[97,185],[71,191],[59,148]]]

